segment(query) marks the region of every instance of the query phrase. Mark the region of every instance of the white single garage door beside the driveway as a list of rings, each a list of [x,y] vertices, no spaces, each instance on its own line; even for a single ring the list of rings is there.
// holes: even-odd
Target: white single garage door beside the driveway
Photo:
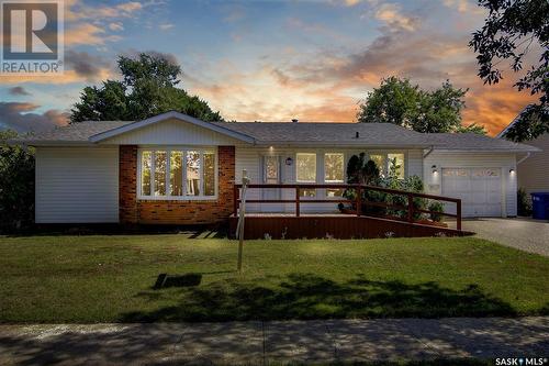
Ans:
[[[500,168],[442,168],[442,196],[461,199],[463,217],[502,215]],[[455,204],[448,206],[455,212]]]

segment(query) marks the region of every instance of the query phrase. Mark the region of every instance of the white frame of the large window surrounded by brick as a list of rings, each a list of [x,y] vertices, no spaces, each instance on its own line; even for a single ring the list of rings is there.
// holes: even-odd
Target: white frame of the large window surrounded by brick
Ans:
[[[166,196],[155,196],[155,152],[161,151],[166,152]],[[170,186],[170,157],[171,152],[177,151],[182,153],[182,195],[183,196],[171,196]],[[144,196],[142,192],[142,175],[143,175],[143,152],[152,153],[150,162],[150,196]],[[186,196],[187,195],[187,153],[188,152],[199,152],[200,153],[200,196]],[[214,154],[214,196],[204,196],[204,178],[203,178],[203,164],[204,164],[204,153]],[[145,201],[213,201],[219,197],[219,152],[217,146],[143,146],[137,148],[137,199]]]

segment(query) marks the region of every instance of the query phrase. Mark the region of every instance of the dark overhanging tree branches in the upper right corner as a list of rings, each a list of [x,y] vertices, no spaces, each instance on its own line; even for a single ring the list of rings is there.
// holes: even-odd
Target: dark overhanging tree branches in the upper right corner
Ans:
[[[540,49],[537,64],[529,65],[514,85],[519,91],[529,89],[533,96],[539,95],[539,102],[528,106],[505,134],[516,142],[536,138],[549,132],[549,1],[479,0],[479,5],[488,9],[489,15],[469,46],[478,54],[478,75],[484,84],[503,79],[498,68],[503,60],[509,59],[511,69],[518,73],[526,55]]]

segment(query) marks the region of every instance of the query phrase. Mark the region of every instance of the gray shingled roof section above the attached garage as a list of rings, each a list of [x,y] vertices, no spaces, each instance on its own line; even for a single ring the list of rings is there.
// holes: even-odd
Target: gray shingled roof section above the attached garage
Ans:
[[[430,145],[444,149],[486,152],[536,152],[538,148],[507,140],[494,138],[475,133],[426,133],[424,138]]]

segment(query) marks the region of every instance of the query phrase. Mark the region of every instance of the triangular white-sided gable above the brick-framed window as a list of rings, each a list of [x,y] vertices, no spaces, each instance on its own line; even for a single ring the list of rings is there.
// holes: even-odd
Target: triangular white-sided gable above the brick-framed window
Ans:
[[[105,140],[101,144],[120,145],[235,145],[238,142],[180,120],[167,120]]]

